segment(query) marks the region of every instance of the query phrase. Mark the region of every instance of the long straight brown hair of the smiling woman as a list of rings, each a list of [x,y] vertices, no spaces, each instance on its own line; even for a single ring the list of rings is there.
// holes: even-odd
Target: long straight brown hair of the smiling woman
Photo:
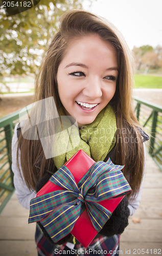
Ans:
[[[110,104],[117,118],[116,163],[124,165],[123,173],[129,180],[134,197],[140,188],[144,168],[143,141],[137,127],[140,126],[132,108],[133,58],[121,33],[106,19],[95,14],[72,10],[61,19],[60,30],[54,36],[44,56],[37,76],[35,101],[53,96],[58,111],[61,102],[57,90],[57,71],[65,54],[68,42],[74,38],[96,33],[110,42],[118,56],[119,78],[117,89]],[[39,110],[37,110],[39,111]],[[47,108],[47,112],[50,109]],[[40,113],[39,113],[40,115]],[[54,124],[53,124],[54,125]],[[40,140],[26,140],[19,137],[22,173],[29,188],[35,189],[37,181],[44,175],[52,159],[45,159]],[[18,153],[17,153],[18,156]],[[41,159],[41,166],[35,167]]]

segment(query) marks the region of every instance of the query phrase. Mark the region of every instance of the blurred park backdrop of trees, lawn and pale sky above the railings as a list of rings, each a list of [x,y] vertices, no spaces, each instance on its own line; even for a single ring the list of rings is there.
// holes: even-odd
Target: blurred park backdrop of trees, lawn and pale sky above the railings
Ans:
[[[32,102],[35,77],[59,18],[75,8],[101,15],[121,31],[135,58],[134,96],[161,105],[161,7],[160,0],[41,0],[9,17],[1,8],[0,117]]]

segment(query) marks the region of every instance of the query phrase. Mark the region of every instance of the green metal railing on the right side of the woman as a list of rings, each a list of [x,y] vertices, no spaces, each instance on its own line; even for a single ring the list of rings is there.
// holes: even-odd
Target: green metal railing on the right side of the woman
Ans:
[[[137,97],[134,100],[136,117],[150,136],[149,154],[162,170],[162,107]]]

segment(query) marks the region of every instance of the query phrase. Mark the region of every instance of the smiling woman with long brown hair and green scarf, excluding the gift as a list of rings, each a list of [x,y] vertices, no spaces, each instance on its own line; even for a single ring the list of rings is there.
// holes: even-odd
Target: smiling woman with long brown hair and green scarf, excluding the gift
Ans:
[[[113,163],[125,165],[123,174],[132,188],[128,208],[130,215],[134,213],[140,202],[143,141],[147,135],[140,129],[132,109],[132,60],[124,38],[104,18],[81,10],[63,15],[60,30],[51,42],[37,77],[35,101],[54,97],[59,116],[76,118],[80,143],[70,154],[46,159],[40,140],[25,139],[20,127],[15,127],[12,169],[16,193],[23,206],[29,208],[38,181],[48,173],[52,175],[82,149],[95,161],[106,161],[110,157]],[[45,110],[50,116],[49,105]],[[41,111],[41,108],[35,110],[38,119]],[[50,125],[55,131],[54,120]],[[15,148],[19,149],[19,171]],[[127,209],[126,215],[129,215]],[[119,248],[119,234],[107,237],[107,233],[101,232],[88,248],[99,250],[106,246],[107,255],[118,255],[115,250]],[[55,249],[74,248],[68,239],[62,241],[63,245],[50,245],[38,227],[36,243],[38,255],[55,255]],[[75,248],[79,249],[81,245]]]

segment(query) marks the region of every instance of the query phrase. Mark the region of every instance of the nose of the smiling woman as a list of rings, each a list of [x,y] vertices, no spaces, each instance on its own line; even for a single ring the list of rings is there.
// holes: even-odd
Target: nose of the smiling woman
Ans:
[[[97,99],[102,96],[101,81],[99,78],[89,78],[83,89],[83,94],[89,98]]]

